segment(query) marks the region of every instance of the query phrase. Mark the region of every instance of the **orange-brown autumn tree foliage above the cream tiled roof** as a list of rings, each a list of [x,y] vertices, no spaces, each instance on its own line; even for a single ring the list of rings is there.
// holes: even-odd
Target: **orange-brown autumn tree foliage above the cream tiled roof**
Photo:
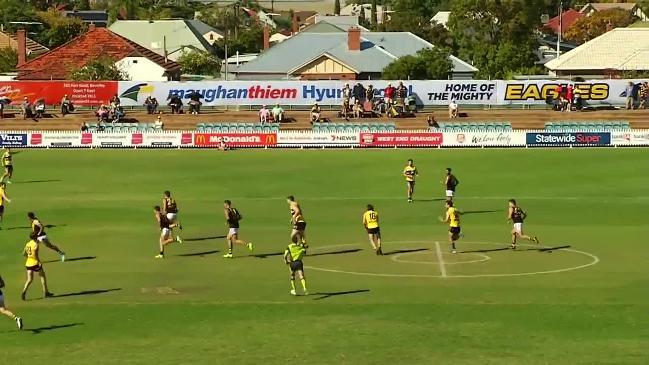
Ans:
[[[564,38],[581,44],[614,28],[625,28],[635,23],[637,17],[623,9],[598,11],[589,17],[577,20],[564,33]]]

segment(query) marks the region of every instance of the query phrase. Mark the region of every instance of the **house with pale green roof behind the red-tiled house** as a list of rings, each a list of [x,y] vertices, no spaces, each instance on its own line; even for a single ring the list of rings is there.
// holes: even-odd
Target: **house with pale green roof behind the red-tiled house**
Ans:
[[[209,27],[200,20],[118,20],[109,29],[140,44],[150,51],[178,61],[183,52],[214,53],[212,43],[205,38]],[[200,28],[200,30],[199,30]]]

